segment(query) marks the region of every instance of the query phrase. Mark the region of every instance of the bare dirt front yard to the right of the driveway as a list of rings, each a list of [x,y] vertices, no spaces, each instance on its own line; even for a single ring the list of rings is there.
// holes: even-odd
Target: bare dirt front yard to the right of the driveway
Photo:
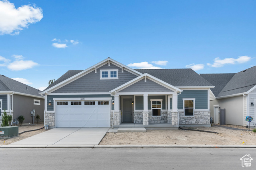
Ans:
[[[237,126],[232,127],[237,128]],[[252,131],[237,131],[216,126],[185,128],[214,131],[219,135],[184,130],[107,133],[100,145],[256,145],[256,133]],[[240,128],[246,129],[245,127]]]

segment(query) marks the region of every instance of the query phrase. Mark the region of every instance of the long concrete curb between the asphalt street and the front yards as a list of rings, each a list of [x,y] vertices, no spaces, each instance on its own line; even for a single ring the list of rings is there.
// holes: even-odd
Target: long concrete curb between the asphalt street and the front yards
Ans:
[[[0,145],[0,149],[14,148],[256,148],[256,145]]]

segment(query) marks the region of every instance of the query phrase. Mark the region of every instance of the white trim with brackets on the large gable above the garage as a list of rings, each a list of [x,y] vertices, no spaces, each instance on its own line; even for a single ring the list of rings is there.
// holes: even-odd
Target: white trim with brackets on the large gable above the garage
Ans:
[[[95,64],[95,65],[87,68],[86,70],[83,70],[83,71],[79,72],[78,74],[76,74],[76,75],[74,75],[74,76],[72,76],[72,77],[70,77],[70,78],[68,78],[68,79],[66,79],[66,80],[56,84],[55,86],[52,86],[51,88],[49,88],[47,90],[44,90],[43,92],[41,92],[39,94],[45,94],[46,92],[48,92],[48,93],[49,92],[53,92],[53,91],[55,91],[55,90],[65,86],[66,84],[69,84],[70,82],[73,82],[74,80],[77,80],[78,78],[81,78],[82,76],[84,76],[84,75],[86,75],[86,74],[88,74],[88,73],[90,73],[92,71],[95,71],[95,73],[96,73],[97,72],[97,68],[100,68],[101,66],[103,66],[105,64],[109,64],[110,65],[110,63],[115,65],[115,66],[118,66],[118,67],[122,68],[123,70],[126,70],[126,71],[128,71],[128,72],[130,72],[132,74],[135,74],[136,76],[142,75],[142,73],[140,73],[140,72],[138,72],[138,71],[136,71],[136,70],[134,70],[134,69],[132,69],[132,68],[130,68],[128,66],[125,66],[124,64],[121,64],[121,63],[119,63],[119,62],[117,62],[117,61],[115,61],[115,60],[113,60],[111,58],[107,58],[107,59],[101,61],[100,63]]]

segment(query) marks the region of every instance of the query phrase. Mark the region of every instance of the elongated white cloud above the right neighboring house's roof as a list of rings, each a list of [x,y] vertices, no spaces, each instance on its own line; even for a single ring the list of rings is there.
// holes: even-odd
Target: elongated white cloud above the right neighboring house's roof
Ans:
[[[222,66],[224,66],[224,64],[246,63],[246,62],[250,61],[250,59],[252,59],[252,58],[248,57],[248,56],[241,56],[241,57],[238,57],[237,59],[226,58],[223,60],[221,60],[219,57],[217,57],[214,59],[213,64],[207,63],[207,65],[212,66],[212,67],[222,67]]]

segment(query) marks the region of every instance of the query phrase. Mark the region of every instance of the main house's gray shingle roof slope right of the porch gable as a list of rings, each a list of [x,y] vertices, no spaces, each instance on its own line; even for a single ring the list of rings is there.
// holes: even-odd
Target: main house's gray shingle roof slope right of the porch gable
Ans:
[[[148,73],[172,86],[212,86],[191,68],[184,69],[137,69],[141,73]]]

